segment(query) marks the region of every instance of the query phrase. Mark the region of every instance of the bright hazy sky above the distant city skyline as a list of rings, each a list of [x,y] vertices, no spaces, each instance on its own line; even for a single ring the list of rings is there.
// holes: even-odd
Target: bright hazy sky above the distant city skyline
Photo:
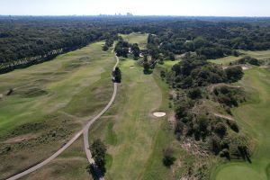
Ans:
[[[270,16],[270,0],[0,0],[12,15],[215,15]]]

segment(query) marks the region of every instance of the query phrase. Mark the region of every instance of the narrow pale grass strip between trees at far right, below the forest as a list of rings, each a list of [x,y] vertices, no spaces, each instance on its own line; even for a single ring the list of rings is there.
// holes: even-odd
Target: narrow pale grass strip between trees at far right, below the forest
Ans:
[[[239,50],[239,52],[241,53],[239,57],[229,56],[225,58],[210,59],[209,61],[216,64],[229,65],[230,62],[236,61],[239,58],[244,58],[245,56],[250,56],[261,60],[270,59],[270,50],[262,50],[262,51]]]

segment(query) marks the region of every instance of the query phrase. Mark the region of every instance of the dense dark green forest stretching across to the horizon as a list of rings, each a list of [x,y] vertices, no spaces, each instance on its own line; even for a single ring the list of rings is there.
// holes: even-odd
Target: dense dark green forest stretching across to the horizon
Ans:
[[[195,52],[204,58],[238,56],[237,49],[270,48],[267,18],[63,16],[0,17],[0,72],[27,67],[118,33],[148,32],[152,58]],[[107,49],[107,46],[104,47]],[[137,55],[138,56],[138,55]]]

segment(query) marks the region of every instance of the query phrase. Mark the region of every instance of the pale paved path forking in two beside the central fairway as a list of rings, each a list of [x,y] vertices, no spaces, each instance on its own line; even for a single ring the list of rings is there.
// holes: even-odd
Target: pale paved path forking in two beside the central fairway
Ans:
[[[116,57],[117,62],[115,64],[115,66],[113,67],[113,70],[118,66],[118,63],[119,63],[119,58],[117,56],[115,56],[115,57]],[[47,165],[51,160],[58,157],[64,150],[66,150],[69,146],[71,146],[76,141],[76,139],[78,139],[83,133],[84,133],[84,141],[87,143],[87,144],[85,144],[85,147],[86,147],[85,152],[86,152],[87,159],[91,164],[94,163],[92,156],[91,156],[91,152],[88,149],[88,147],[89,147],[88,130],[94,124],[94,122],[97,121],[103,115],[103,113],[106,112],[110,108],[110,106],[112,105],[112,103],[115,99],[115,96],[116,96],[116,92],[117,92],[117,84],[114,83],[113,85],[114,85],[114,90],[113,90],[111,101],[106,105],[106,107],[103,109],[102,112],[100,112],[97,116],[94,117],[93,120],[89,121],[85,125],[83,130],[80,130],[79,132],[77,132],[76,135],[72,139],[70,139],[67,142],[67,144],[65,144],[65,146],[63,146],[62,148],[59,148],[58,151],[56,153],[54,153],[51,157],[45,159],[44,161],[40,162],[39,164],[37,164],[35,166],[32,166],[31,168],[23,171],[22,173],[19,173],[17,175],[14,175],[14,176],[8,178],[7,180],[19,179],[19,178],[23,177],[24,175],[28,175],[28,174],[40,169],[42,166]]]

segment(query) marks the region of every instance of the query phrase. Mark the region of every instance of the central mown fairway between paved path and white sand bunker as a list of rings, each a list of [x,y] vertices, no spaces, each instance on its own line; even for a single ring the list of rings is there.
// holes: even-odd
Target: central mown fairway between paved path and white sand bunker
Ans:
[[[166,118],[156,119],[151,115],[162,108],[160,87],[154,76],[144,75],[142,67],[136,63],[132,59],[121,61],[123,79],[116,102],[90,130],[90,139],[102,138],[112,157],[112,162],[107,162],[111,165],[106,179],[137,179],[142,176],[160,125],[166,122]],[[130,66],[135,68],[130,69]],[[159,158],[162,166],[162,157]]]

